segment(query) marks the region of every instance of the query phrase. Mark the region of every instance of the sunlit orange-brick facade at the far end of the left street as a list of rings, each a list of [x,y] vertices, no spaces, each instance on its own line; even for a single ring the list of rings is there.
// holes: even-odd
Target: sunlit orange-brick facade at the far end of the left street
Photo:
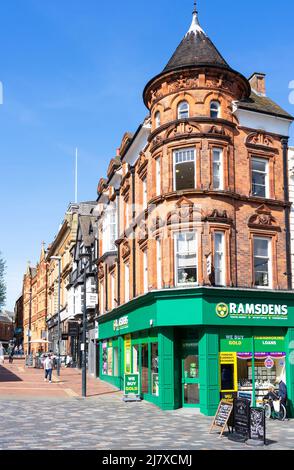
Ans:
[[[46,352],[47,261],[44,244],[35,268],[28,266],[23,281],[24,353]]]

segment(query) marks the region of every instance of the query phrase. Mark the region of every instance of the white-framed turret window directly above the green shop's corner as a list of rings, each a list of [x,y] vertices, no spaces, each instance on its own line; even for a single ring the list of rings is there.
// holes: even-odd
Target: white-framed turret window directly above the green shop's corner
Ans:
[[[175,239],[176,285],[195,285],[197,271],[197,235],[193,232],[181,232]]]

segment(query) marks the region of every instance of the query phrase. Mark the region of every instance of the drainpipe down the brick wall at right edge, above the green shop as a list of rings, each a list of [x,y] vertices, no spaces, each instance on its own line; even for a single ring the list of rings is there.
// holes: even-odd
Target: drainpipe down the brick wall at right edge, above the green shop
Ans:
[[[289,199],[289,174],[288,174],[288,138],[282,139],[283,146],[283,168],[284,168],[284,199],[286,203]],[[291,231],[290,231],[290,207],[285,208],[285,230],[286,230],[286,262],[288,289],[292,290],[292,268],[291,268]]]

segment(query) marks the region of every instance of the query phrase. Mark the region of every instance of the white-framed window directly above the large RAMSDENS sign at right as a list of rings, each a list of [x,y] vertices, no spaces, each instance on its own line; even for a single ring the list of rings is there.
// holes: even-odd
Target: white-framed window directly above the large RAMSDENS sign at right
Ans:
[[[254,237],[254,285],[271,287],[271,240]]]

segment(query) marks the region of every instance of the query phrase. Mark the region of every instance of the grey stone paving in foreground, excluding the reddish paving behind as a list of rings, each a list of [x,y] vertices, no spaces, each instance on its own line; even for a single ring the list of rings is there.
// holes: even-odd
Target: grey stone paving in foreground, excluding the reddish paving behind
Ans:
[[[211,418],[195,411],[164,412],[120,398],[0,400],[0,450],[146,449],[250,450],[209,434]],[[294,449],[294,421],[268,423],[267,449]]]

